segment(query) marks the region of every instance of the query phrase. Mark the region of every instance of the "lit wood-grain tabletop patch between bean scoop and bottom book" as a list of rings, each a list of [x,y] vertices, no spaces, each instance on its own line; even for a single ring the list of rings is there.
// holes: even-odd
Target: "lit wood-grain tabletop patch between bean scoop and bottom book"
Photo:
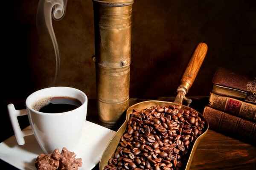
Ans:
[[[208,130],[195,151],[190,170],[256,170],[256,147]]]

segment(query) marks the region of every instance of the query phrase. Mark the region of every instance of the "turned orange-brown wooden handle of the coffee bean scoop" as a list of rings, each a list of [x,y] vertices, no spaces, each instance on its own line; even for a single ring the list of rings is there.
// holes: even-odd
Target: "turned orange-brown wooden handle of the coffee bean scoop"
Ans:
[[[195,80],[195,77],[198,74],[198,71],[204,61],[204,57],[206,56],[207,48],[208,47],[204,42],[200,42],[197,45],[183,73],[183,76],[180,80],[180,85],[178,88],[183,88],[186,91],[186,93],[189,91],[189,88],[192,86]]]

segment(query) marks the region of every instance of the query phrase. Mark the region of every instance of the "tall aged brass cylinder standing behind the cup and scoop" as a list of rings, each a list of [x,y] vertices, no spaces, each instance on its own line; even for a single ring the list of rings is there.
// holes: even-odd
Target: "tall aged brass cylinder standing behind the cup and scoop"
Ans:
[[[133,0],[93,0],[99,120],[115,127],[129,107]]]

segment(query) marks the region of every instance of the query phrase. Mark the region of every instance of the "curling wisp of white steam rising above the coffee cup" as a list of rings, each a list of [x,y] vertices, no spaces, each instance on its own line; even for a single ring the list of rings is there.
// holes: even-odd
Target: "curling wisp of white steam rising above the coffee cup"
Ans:
[[[58,43],[52,27],[52,18],[57,21],[61,20],[65,15],[66,6],[67,0],[39,0],[36,15],[36,23],[38,30],[47,31],[49,33],[55,51],[56,66],[55,77],[53,82],[54,85],[60,67],[60,56],[58,51]]]

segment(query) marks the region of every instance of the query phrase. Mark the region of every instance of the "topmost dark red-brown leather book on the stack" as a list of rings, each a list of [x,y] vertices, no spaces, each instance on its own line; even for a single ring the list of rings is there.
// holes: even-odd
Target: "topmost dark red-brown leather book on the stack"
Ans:
[[[217,68],[212,92],[256,104],[256,75]]]

